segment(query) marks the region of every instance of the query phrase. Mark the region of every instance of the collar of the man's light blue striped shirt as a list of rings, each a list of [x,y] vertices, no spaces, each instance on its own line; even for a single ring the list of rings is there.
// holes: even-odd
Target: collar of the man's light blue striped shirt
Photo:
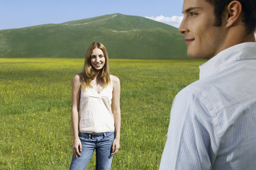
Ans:
[[[244,42],[227,48],[199,66],[199,79],[225,69],[230,62],[239,60],[256,60],[256,42]]]

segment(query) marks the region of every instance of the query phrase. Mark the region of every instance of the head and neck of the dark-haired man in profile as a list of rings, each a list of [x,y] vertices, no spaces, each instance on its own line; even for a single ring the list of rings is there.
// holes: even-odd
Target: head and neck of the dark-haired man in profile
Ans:
[[[255,6],[255,0],[240,1]],[[189,57],[211,58],[233,45],[255,41],[255,7],[245,8],[240,1],[184,0],[179,32],[185,35]]]

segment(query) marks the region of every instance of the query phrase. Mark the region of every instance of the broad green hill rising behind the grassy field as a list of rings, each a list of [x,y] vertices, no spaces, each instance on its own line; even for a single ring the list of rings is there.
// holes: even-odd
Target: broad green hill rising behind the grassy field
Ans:
[[[102,42],[110,58],[188,58],[177,28],[140,16],[106,16],[0,30],[0,57],[84,57]]]

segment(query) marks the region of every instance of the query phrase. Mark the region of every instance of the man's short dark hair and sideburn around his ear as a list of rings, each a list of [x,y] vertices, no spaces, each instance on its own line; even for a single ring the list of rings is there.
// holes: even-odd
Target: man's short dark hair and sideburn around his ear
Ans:
[[[221,16],[223,9],[233,0],[205,0],[214,6],[216,23],[214,26],[221,26]],[[252,33],[256,28],[256,2],[255,0],[237,0],[242,5],[243,22],[248,33]]]

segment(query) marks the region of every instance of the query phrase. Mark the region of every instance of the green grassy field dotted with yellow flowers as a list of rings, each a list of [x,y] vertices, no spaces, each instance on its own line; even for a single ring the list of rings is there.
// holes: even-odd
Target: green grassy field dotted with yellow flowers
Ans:
[[[205,60],[110,60],[121,80],[112,169],[158,169],[174,96]],[[83,59],[0,59],[0,169],[68,169],[71,84]],[[91,159],[87,169],[94,169]]]

